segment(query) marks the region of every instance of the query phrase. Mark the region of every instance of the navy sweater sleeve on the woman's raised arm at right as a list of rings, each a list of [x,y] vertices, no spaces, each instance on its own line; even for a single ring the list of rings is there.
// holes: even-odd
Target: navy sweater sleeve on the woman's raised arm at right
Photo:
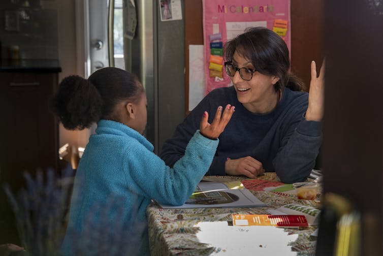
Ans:
[[[273,160],[276,174],[284,183],[307,179],[315,165],[322,142],[322,122],[307,121],[303,116],[298,125],[282,139],[281,147]]]

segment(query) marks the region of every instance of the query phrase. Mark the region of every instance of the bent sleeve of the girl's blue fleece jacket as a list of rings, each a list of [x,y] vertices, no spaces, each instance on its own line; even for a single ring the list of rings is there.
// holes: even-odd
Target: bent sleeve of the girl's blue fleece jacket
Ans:
[[[182,205],[205,175],[217,145],[218,140],[210,140],[197,131],[173,168],[166,166],[153,152],[136,149],[140,156],[131,155],[127,161],[136,193],[159,203]]]

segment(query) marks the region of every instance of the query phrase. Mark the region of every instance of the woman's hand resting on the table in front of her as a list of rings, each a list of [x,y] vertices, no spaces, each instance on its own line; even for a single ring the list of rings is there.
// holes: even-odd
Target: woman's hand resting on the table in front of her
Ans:
[[[238,159],[228,159],[225,163],[225,171],[227,175],[245,175],[249,178],[257,178],[265,172],[262,163],[251,156]]]

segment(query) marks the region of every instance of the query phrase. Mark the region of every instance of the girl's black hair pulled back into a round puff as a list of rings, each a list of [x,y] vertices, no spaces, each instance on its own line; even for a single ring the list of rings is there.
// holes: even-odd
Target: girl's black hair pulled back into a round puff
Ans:
[[[51,108],[68,130],[83,130],[100,119],[119,121],[116,104],[137,103],[144,87],[136,75],[118,68],[103,68],[88,79],[68,76],[53,95]]]

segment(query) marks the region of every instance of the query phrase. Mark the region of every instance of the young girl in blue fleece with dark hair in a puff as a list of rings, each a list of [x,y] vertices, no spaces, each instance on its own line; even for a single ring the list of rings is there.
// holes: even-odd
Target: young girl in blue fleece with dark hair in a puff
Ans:
[[[111,198],[118,198],[126,210],[122,222],[132,218],[146,222],[146,207],[151,199],[183,204],[210,166],[217,137],[234,112],[231,105],[223,111],[218,107],[211,124],[208,113],[201,113],[200,130],[188,143],[184,157],[171,169],[141,135],[146,107],[144,87],[136,76],[121,69],[104,68],[88,79],[69,76],[60,83],[53,109],[64,127],[81,130],[97,122],[96,134],[90,136],[76,172],[62,254],[76,254],[78,245],[89,239],[84,234],[87,216],[95,206],[109,207],[106,204]],[[104,218],[98,213],[93,217],[113,227],[116,214],[112,209]],[[136,236],[142,241],[139,254],[149,255],[147,230]]]

